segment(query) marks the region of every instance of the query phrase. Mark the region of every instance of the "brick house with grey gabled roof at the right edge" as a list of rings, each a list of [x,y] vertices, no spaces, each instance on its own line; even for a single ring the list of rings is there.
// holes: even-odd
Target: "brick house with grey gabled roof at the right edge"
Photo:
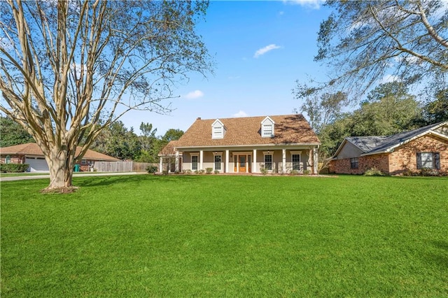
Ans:
[[[330,162],[330,173],[362,174],[376,167],[388,175],[448,172],[448,121],[391,136],[351,136]]]

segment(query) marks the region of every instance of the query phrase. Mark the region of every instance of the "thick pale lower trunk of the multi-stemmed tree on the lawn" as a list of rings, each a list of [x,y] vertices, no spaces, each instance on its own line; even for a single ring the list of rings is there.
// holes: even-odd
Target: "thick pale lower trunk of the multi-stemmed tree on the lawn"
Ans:
[[[76,187],[72,185],[73,154],[62,148],[50,150],[45,155],[50,169],[50,185],[43,192],[72,192]]]

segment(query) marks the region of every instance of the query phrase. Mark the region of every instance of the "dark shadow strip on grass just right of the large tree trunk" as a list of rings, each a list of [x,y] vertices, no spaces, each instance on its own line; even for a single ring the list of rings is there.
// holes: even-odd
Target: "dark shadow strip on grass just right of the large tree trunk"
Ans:
[[[76,180],[74,183],[79,187],[97,187],[97,186],[107,186],[113,185],[116,183],[132,183],[132,184],[141,184],[141,183],[191,183],[197,181],[198,176],[160,176],[160,175],[135,175],[135,176],[96,176],[96,177],[76,177],[73,180]]]

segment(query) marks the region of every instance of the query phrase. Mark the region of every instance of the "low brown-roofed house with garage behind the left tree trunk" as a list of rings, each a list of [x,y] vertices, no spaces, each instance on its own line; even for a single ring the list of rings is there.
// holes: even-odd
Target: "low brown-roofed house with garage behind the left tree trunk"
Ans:
[[[80,152],[80,147],[76,149],[76,153]],[[94,162],[118,162],[120,159],[99,153],[94,150],[87,150],[80,162],[81,171],[87,171],[89,166],[93,166]],[[26,143],[10,147],[0,148],[0,162],[3,164],[29,164],[28,171],[49,171],[48,164],[43,157],[41,148],[36,143]]]

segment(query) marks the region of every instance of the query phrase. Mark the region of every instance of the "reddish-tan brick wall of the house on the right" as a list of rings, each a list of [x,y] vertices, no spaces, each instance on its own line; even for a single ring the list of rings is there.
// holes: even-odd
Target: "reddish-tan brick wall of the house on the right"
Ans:
[[[416,166],[417,152],[440,152],[440,171],[448,171],[448,141],[426,135],[395,148],[391,153],[358,157],[358,169],[351,169],[349,158],[332,160],[330,173],[363,174],[372,167],[390,175],[419,171]]]

